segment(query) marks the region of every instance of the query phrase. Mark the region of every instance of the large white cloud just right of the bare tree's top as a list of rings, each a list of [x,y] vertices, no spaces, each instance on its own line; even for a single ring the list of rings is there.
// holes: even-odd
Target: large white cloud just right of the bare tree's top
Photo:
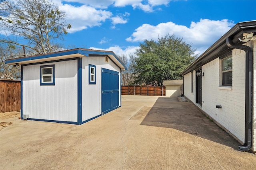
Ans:
[[[62,0],[54,0],[54,3],[58,4],[60,10],[66,12],[66,21],[71,24],[70,33],[87,29],[88,27],[100,26],[106,20],[112,21],[112,29],[115,29],[116,24],[124,24],[128,22],[128,16],[130,14],[125,12],[124,14],[118,14],[113,17],[112,12],[109,10],[102,10],[96,8],[107,8],[114,3],[114,0],[65,0],[65,2],[78,2],[80,6],[74,6],[71,4],[63,4]],[[97,3],[96,3],[97,2]]]

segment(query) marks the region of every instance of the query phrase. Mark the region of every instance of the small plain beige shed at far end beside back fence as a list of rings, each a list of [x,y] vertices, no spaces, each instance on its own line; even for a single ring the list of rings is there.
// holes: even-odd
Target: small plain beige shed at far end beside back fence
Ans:
[[[183,80],[163,80],[165,86],[165,96],[170,98],[178,98],[181,95],[180,86]]]

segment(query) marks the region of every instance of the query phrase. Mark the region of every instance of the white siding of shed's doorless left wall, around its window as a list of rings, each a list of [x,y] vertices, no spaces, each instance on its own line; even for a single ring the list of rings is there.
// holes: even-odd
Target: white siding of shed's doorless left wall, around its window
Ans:
[[[40,86],[40,66],[55,64],[55,85]],[[77,122],[77,60],[23,66],[23,114]]]

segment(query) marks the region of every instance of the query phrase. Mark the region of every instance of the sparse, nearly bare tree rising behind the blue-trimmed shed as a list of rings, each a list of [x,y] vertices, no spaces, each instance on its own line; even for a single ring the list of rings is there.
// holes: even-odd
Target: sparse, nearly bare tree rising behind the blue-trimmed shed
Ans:
[[[60,45],[54,40],[63,39],[71,28],[66,24],[65,13],[50,0],[1,0],[0,15],[0,30],[24,42],[7,38],[0,39],[0,43],[26,47],[31,54],[58,51]]]

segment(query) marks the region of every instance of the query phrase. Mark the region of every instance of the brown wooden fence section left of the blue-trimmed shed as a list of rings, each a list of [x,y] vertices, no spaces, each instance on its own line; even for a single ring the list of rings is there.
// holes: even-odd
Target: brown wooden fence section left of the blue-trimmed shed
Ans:
[[[0,112],[20,110],[20,80],[0,79]]]

